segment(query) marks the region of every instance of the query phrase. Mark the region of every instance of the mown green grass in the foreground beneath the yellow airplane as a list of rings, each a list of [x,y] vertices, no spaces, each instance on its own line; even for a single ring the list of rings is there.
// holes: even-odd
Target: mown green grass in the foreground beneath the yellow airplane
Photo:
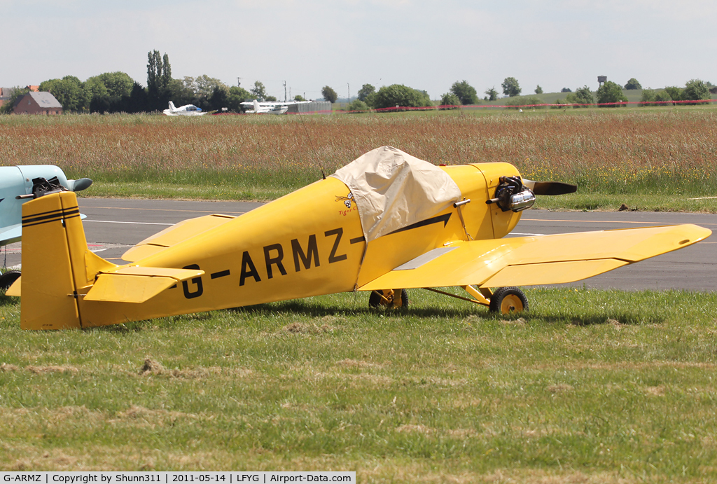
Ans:
[[[414,290],[90,331],[0,306],[2,470],[356,470],[362,483],[717,478],[717,295]]]

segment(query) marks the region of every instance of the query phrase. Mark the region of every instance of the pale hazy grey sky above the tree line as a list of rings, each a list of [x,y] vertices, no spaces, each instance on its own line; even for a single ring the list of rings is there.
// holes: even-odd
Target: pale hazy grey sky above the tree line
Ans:
[[[505,77],[597,88],[717,84],[717,2],[710,0],[0,0],[0,85],[123,71],[146,84],[147,52],[172,75],[217,77],[270,95],[340,97],[394,83],[432,98],[467,80],[482,95]]]

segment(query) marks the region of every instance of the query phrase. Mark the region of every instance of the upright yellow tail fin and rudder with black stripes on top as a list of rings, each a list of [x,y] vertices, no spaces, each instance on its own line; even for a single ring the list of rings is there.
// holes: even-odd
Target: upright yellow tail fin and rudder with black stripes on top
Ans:
[[[22,329],[80,328],[77,290],[117,267],[87,249],[77,197],[47,194],[22,206]]]

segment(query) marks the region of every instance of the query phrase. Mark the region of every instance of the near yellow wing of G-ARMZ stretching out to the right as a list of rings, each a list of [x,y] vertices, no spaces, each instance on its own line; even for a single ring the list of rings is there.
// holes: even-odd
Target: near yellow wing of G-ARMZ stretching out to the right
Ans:
[[[410,260],[359,290],[571,283],[709,237],[693,224],[454,242]]]

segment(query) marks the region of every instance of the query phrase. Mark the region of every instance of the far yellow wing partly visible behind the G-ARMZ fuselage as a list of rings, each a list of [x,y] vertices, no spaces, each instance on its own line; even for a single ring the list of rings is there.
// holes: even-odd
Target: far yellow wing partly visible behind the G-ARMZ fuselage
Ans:
[[[150,255],[155,255],[157,252],[165,250],[167,247],[179,244],[190,237],[206,232],[207,230],[219,227],[222,224],[231,222],[236,217],[230,215],[206,215],[204,217],[197,217],[196,219],[184,220],[179,224],[174,224],[171,227],[164,229],[161,232],[154,234],[152,237],[144,239],[137,245],[132,247],[130,250],[122,255],[124,260],[135,262],[143,259]]]

